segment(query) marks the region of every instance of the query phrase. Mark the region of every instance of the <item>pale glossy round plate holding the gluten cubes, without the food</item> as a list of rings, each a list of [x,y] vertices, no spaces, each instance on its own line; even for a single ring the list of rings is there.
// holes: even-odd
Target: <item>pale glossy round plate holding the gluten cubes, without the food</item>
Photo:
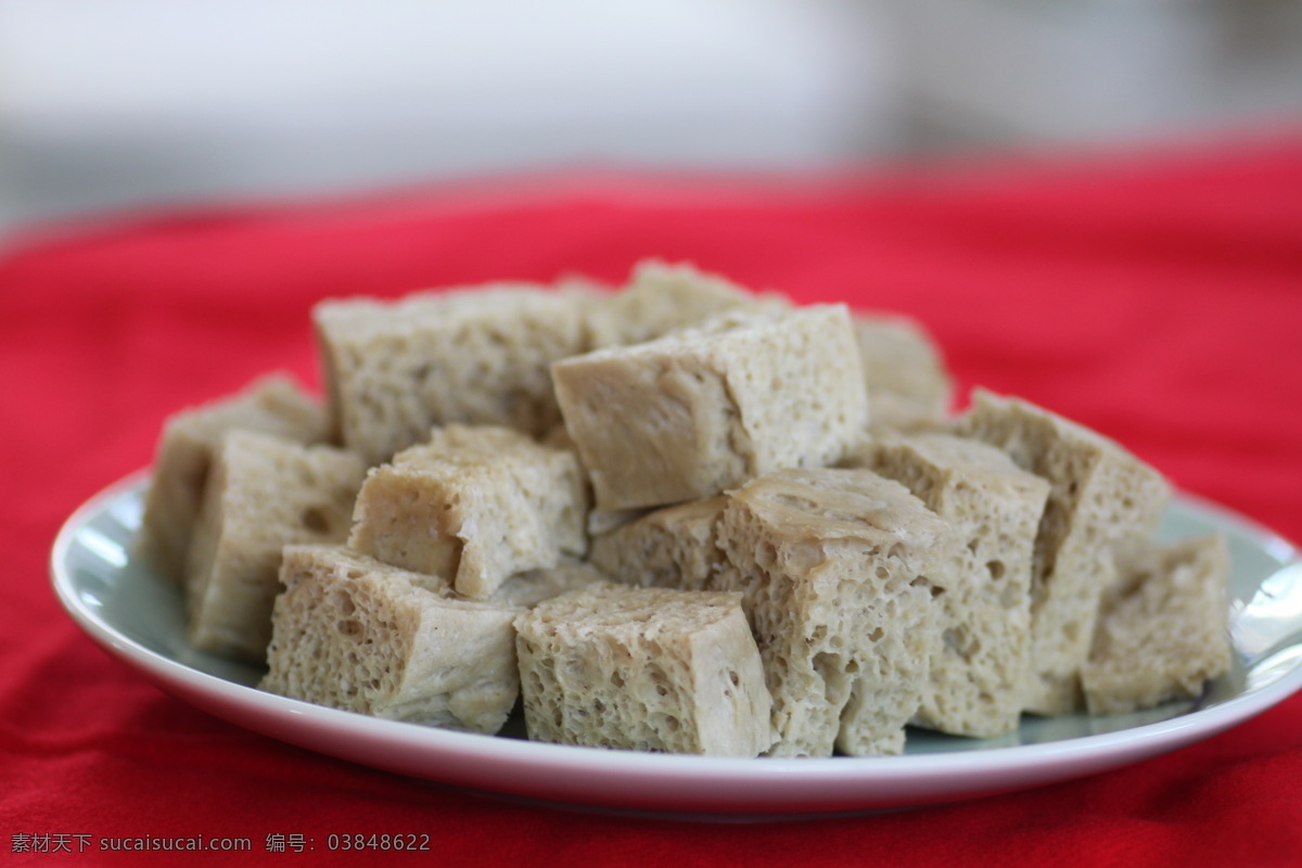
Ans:
[[[241,726],[365,765],[495,794],[697,817],[897,808],[1034,787],[1204,739],[1302,687],[1302,557],[1285,540],[1189,497],[1161,535],[1229,537],[1234,665],[1197,701],[1113,717],[1026,717],[997,740],[910,731],[904,756],[715,759],[562,747],[319,708],[258,691],[260,671],[186,647],[177,590],[132,560],[143,476],[107,489],[64,526],[55,591],[99,644],[163,688]]]

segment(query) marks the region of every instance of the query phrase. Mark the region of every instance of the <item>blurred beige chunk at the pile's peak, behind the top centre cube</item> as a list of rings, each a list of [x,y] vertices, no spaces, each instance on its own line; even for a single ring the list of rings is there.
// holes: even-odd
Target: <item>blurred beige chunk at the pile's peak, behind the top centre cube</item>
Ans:
[[[776,293],[756,294],[689,264],[637,264],[628,286],[602,297],[590,314],[592,349],[641,344],[724,311],[781,310]]]

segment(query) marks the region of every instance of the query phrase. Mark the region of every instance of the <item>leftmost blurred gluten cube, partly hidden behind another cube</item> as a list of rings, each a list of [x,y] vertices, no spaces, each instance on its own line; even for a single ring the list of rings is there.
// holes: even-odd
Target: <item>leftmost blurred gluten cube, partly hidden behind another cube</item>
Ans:
[[[234,396],[171,416],[154,455],[135,553],[146,566],[177,584],[185,578],[186,552],[214,454],[221,437],[237,428],[305,444],[328,435],[326,411],[279,373],[260,377]]]

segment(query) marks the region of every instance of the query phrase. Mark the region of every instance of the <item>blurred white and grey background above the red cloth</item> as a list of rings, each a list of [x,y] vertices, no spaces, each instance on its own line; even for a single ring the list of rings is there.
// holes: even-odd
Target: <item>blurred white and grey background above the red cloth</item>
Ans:
[[[1302,0],[0,0],[0,233],[586,168],[802,173],[1302,120]]]

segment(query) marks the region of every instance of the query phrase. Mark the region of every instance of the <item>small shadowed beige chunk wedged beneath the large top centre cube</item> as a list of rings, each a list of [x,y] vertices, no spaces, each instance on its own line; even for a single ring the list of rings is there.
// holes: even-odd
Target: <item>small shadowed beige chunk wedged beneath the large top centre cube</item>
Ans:
[[[727,502],[717,496],[647,513],[595,537],[589,557],[625,584],[708,590],[724,562],[715,526]]]

